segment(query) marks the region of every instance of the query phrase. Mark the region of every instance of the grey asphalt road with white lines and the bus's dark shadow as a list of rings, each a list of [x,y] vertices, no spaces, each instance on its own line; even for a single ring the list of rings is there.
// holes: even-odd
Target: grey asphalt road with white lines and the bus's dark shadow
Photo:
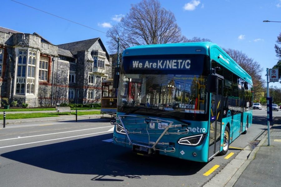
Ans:
[[[203,186],[267,130],[266,111],[253,114],[248,133],[230,145],[234,155],[208,163],[135,155],[112,143],[106,119],[9,125],[0,129],[0,186]]]

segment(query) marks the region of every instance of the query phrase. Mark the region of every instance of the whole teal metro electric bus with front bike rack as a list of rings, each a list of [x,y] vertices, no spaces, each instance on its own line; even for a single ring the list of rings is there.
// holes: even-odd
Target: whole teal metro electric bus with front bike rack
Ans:
[[[211,42],[130,47],[114,79],[113,140],[137,154],[208,162],[252,124],[252,79]]]

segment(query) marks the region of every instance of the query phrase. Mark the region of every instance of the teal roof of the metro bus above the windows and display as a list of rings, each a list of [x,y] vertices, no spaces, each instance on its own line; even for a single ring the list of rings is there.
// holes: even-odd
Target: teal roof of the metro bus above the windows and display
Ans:
[[[253,84],[251,76],[243,70],[224,50],[212,42],[188,42],[172,44],[155,44],[129,47],[123,51],[125,56],[139,55],[173,55],[173,54],[203,54],[218,62],[229,71],[239,75],[248,83]]]

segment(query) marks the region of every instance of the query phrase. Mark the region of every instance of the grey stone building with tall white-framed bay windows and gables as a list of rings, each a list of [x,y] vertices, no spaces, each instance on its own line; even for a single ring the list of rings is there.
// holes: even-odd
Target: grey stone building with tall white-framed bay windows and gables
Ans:
[[[0,27],[0,96],[28,107],[100,103],[111,57],[100,38],[54,45]]]

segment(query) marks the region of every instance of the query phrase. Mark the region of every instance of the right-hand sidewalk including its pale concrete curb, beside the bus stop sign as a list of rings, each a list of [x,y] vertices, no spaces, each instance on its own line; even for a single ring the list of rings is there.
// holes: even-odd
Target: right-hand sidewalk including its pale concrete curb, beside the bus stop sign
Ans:
[[[281,186],[281,116],[256,137],[259,144],[248,145],[204,187],[279,187]],[[266,126],[267,129],[267,126]]]

